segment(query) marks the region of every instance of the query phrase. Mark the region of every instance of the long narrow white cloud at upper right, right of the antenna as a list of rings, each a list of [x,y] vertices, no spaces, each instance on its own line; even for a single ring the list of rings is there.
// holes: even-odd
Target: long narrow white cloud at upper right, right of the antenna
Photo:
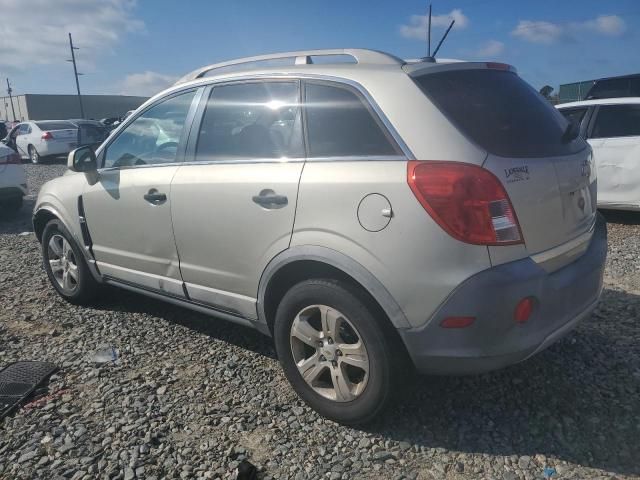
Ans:
[[[619,36],[627,29],[625,21],[617,15],[600,15],[593,20],[566,24],[546,21],[521,20],[511,34],[531,43],[550,45],[561,37],[579,38],[581,32]]]

